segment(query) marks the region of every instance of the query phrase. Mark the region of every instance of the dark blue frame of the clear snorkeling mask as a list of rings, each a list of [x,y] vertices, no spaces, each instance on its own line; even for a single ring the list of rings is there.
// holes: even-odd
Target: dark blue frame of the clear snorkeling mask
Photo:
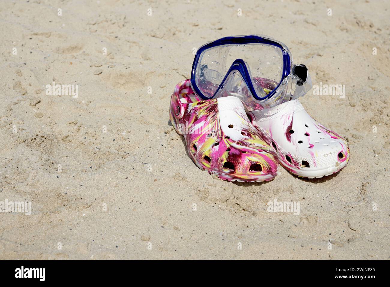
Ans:
[[[257,92],[256,92],[253,84],[252,84],[252,79],[250,78],[250,74],[248,72],[248,67],[246,67],[245,62],[242,59],[236,59],[233,62],[233,64],[230,66],[227,73],[225,74],[225,77],[223,78],[222,82],[220,83],[218,89],[215,91],[213,96],[211,96],[211,97],[205,96],[201,92],[201,90],[198,88],[198,86],[196,84],[196,80],[195,80],[195,73],[196,73],[196,69],[198,66],[199,58],[200,58],[200,55],[202,55],[203,51],[210,49],[210,48],[214,48],[216,46],[223,46],[223,45],[227,45],[227,44],[240,45],[240,44],[251,44],[251,43],[268,44],[268,45],[276,46],[276,47],[280,48],[280,50],[282,51],[283,72],[282,72],[282,78],[281,78],[280,82],[278,83],[277,87],[275,87],[275,89],[273,89],[265,97],[259,97],[257,95]],[[287,51],[285,51],[284,47],[280,43],[273,41],[271,39],[263,38],[263,37],[256,36],[256,35],[247,35],[247,36],[239,36],[239,37],[233,37],[233,36],[224,37],[224,38],[215,40],[211,43],[205,44],[199,48],[199,50],[197,51],[197,53],[195,55],[193,64],[192,64],[191,86],[192,86],[193,90],[195,91],[195,93],[199,97],[201,97],[202,99],[204,99],[204,100],[212,99],[218,93],[218,91],[223,88],[223,85],[225,84],[226,78],[229,76],[230,72],[233,70],[236,70],[241,74],[241,77],[245,81],[245,84],[248,87],[249,91],[251,92],[252,96],[257,100],[262,101],[264,99],[268,99],[268,98],[272,97],[275,94],[275,92],[277,91],[278,87],[284,81],[284,79],[287,78],[287,76],[289,76],[289,74],[291,73],[291,59],[290,59],[289,53],[287,53]]]

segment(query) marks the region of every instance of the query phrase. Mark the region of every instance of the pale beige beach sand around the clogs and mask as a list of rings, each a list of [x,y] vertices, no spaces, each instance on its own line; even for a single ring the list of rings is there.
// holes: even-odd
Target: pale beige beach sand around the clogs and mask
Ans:
[[[390,258],[389,8],[3,1],[0,201],[31,202],[31,214],[0,213],[0,259]],[[345,85],[344,98],[301,98],[347,138],[339,174],[280,167],[273,181],[232,183],[187,156],[170,95],[194,49],[246,34],[285,43],[313,84]],[[78,85],[77,97],[50,95],[53,82]],[[268,212],[275,199],[300,202],[300,214]]]

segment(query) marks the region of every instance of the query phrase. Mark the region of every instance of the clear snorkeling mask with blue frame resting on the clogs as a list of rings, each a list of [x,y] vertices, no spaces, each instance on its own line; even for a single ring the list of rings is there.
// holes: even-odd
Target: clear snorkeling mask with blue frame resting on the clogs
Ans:
[[[305,95],[312,82],[307,67],[294,65],[283,43],[246,35],[201,46],[192,65],[191,87],[204,100],[236,96],[248,110],[263,110]]]

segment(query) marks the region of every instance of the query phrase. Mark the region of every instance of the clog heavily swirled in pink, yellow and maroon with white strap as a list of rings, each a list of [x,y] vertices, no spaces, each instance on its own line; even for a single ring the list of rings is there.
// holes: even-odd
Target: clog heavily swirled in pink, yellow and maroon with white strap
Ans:
[[[237,97],[201,100],[190,80],[171,97],[170,121],[184,136],[194,163],[228,181],[269,181],[277,175],[277,156],[249,122]]]

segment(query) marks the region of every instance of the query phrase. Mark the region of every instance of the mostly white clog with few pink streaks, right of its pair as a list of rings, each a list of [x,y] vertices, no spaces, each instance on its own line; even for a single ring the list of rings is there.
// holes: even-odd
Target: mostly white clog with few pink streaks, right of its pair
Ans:
[[[298,99],[250,114],[262,138],[277,152],[280,164],[292,174],[319,178],[347,165],[346,140],[310,117]]]

